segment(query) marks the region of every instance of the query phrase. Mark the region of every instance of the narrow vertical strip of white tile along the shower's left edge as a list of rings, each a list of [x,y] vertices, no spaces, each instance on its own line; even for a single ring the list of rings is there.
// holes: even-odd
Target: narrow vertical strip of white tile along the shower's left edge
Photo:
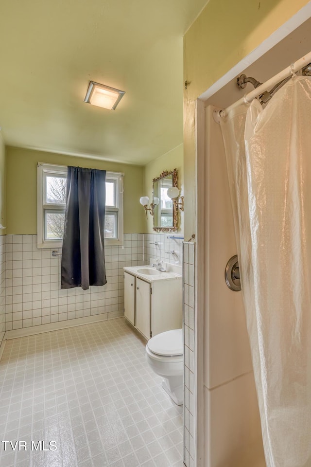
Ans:
[[[184,463],[194,467],[194,248],[184,242]]]

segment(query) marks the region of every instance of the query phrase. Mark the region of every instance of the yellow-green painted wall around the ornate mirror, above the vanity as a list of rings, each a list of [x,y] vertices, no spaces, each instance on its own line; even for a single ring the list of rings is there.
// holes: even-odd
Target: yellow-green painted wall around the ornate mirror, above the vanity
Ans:
[[[183,145],[175,147],[168,153],[163,156],[158,157],[144,167],[144,182],[143,182],[143,193],[144,196],[148,196],[149,199],[152,199],[152,180],[157,178],[164,170],[170,171],[177,169],[177,183],[178,188],[180,189],[181,195],[184,194],[184,150]],[[143,208],[141,208],[143,209]],[[179,214],[178,220],[178,231],[176,234],[183,234],[183,221],[184,213]],[[148,211],[148,220],[147,220],[147,230],[146,233],[152,234],[155,233],[153,230],[153,218],[149,216]]]

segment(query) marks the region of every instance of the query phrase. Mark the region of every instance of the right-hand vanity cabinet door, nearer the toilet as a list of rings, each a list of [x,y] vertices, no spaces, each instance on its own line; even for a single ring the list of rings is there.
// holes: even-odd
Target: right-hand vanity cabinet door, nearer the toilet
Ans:
[[[150,339],[150,284],[136,278],[136,327]]]

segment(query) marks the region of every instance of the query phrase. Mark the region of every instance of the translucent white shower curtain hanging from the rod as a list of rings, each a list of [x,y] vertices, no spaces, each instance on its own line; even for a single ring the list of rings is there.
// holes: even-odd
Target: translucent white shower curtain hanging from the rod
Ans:
[[[221,126],[266,464],[311,467],[311,78]]]

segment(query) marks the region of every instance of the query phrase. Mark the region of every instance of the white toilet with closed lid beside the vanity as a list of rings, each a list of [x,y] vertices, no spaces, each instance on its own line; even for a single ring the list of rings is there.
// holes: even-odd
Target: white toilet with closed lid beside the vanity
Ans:
[[[173,329],[152,337],[146,345],[146,360],[163,377],[162,387],[175,404],[183,404],[183,330]]]

